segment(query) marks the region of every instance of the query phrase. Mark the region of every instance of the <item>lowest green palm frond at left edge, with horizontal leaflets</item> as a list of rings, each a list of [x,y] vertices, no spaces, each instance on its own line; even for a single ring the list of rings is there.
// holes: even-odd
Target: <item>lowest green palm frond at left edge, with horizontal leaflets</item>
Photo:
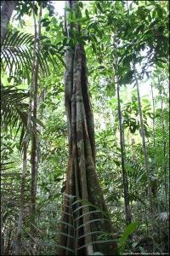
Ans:
[[[5,141],[3,142],[3,150],[0,149],[1,153],[1,229],[2,229],[2,244],[4,252],[10,250],[13,251],[14,236],[16,234],[17,222],[19,218],[20,208],[20,180],[21,172],[20,169],[16,169],[16,162],[9,160],[9,154],[5,153],[6,146]],[[29,174],[27,174],[29,175]],[[26,183],[26,194],[25,194],[25,209],[28,205],[30,186]],[[11,234],[11,244],[8,244],[8,231]]]

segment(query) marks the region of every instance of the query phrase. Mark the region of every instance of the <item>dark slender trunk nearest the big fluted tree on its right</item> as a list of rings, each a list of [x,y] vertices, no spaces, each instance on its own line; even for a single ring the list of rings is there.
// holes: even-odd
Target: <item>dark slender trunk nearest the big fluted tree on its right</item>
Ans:
[[[115,42],[115,49],[117,49],[117,45]],[[126,170],[126,154],[125,154],[125,139],[124,139],[124,129],[122,122],[122,110],[121,110],[121,99],[120,99],[120,86],[118,82],[118,57],[115,56],[115,80],[116,80],[116,91],[117,91],[117,110],[118,110],[118,119],[119,119],[119,128],[120,128],[120,144],[121,144],[121,159],[122,159],[122,180],[123,180],[123,189],[124,189],[124,206],[125,206],[125,218],[126,223],[130,224],[132,222],[132,213],[130,210],[129,204],[129,189],[128,189],[128,179],[127,179],[127,170]]]

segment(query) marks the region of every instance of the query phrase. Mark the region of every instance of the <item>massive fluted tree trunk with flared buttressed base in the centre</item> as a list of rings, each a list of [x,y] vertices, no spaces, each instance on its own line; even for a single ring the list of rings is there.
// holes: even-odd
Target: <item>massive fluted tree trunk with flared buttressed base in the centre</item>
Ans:
[[[73,10],[77,2],[68,1],[67,3]],[[68,20],[65,20],[65,25],[66,31],[69,32],[68,37],[71,37],[71,26]],[[77,32],[80,33],[80,27],[77,27]],[[65,108],[69,139],[69,165],[65,193],[75,197],[71,202],[71,199],[65,195],[59,255],[71,255],[69,249],[74,252],[74,255],[90,255],[94,252],[114,255],[116,254],[115,241],[99,242],[99,232],[111,233],[112,230],[108,215],[101,221],[107,209],[95,172],[94,119],[88,96],[86,55],[81,44],[77,43],[71,50],[66,50],[65,63],[67,67]],[[78,199],[80,201],[77,201]],[[101,211],[94,212],[89,204],[99,207]],[[74,218],[73,222],[71,220],[71,217],[74,217],[72,211],[75,211],[77,222]]]

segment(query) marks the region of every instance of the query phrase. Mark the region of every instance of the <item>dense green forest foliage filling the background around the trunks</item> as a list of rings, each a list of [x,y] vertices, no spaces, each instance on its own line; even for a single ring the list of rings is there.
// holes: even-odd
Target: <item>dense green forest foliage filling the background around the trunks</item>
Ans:
[[[167,253],[168,2],[79,2],[76,8],[77,15],[71,13],[71,9],[65,8],[71,13],[69,15],[71,24],[81,25],[80,34],[74,29],[73,39],[67,37],[64,17],[54,14],[52,3],[50,1],[41,1],[41,3],[43,15],[41,51],[37,55],[40,64],[37,120],[31,119],[31,124],[37,122],[38,130],[36,231],[34,237],[31,237],[30,224],[34,216],[30,213],[31,146],[29,146],[22,230],[23,255],[33,254],[32,238],[37,255],[54,255],[59,248],[59,235],[61,235],[59,219],[63,203],[61,192],[65,190],[68,168],[65,85],[63,83],[64,55],[65,47],[72,49],[76,42],[83,44],[87,55],[88,87],[94,111],[96,172],[104,191],[105,203],[109,208],[113,226],[116,227],[116,231],[113,232],[119,236],[120,254]],[[58,1],[56,4],[59,4]],[[36,1],[36,14],[39,6],[40,1]],[[3,247],[8,255],[14,254],[19,217],[22,159],[18,149],[26,129],[34,44],[34,36],[27,32],[30,31],[29,24],[31,24],[31,1],[19,1],[16,12],[13,26],[9,26],[1,52],[3,69],[1,88],[2,230]],[[133,61],[139,80],[144,135],[149,157],[150,187],[155,209],[153,233],[150,231],[150,217],[147,210],[148,184],[140,135]],[[115,78],[120,85],[126,151],[125,168],[130,208],[133,213],[133,223],[127,227],[125,227],[122,151]],[[152,85],[153,97],[150,85]],[[71,196],[68,196],[68,201],[75,211],[76,205]],[[81,217],[83,202],[77,202],[80,206],[77,212]],[[99,211],[96,208],[93,210]],[[74,229],[74,225],[77,224],[74,214],[71,215],[71,220]],[[74,239],[78,239],[76,233]],[[96,242],[105,240],[108,240],[107,236],[98,236]],[[67,249],[69,250],[69,247]],[[94,252],[94,255],[103,254]]]

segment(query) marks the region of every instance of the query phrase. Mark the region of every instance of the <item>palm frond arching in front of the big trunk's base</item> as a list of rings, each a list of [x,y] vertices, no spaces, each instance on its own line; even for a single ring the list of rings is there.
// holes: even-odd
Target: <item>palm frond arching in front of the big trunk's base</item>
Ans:
[[[59,230],[59,235],[66,237],[68,246],[64,247],[62,244],[59,244],[58,248],[64,249],[66,254],[73,253],[73,255],[77,255],[79,253],[82,254],[83,249],[91,246],[93,247],[94,253],[97,253],[99,252],[99,245],[104,243],[105,247],[112,247],[113,254],[115,253],[116,239],[113,234],[106,233],[102,230],[102,224],[110,223],[106,212],[94,206],[89,201],[78,199],[73,195],[65,195],[64,207],[66,211],[65,214],[68,215],[68,221],[66,219],[60,220],[60,224],[65,226],[65,231],[63,231],[63,229],[61,229],[62,232]],[[88,212],[83,211],[85,207],[89,208]],[[68,208],[70,210],[68,210]],[[89,218],[86,218],[87,215]],[[82,230],[88,224],[91,227],[91,231],[84,233]],[[88,240],[86,238],[88,236],[92,237],[92,241],[87,244],[86,241]]]

